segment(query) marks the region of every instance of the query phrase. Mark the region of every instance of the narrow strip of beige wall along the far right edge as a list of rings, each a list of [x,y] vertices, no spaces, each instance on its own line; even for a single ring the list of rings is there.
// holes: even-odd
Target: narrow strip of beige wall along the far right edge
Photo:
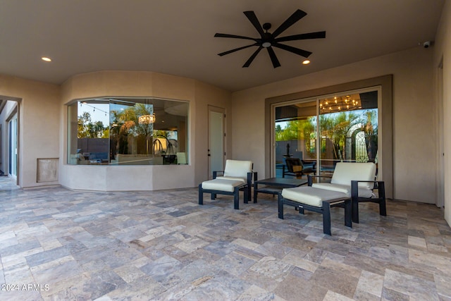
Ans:
[[[435,97],[439,99],[437,109],[437,130],[440,149],[438,149],[438,178],[443,174],[443,182],[438,194],[443,192],[445,219],[451,225],[451,3],[445,1],[440,24],[435,37],[433,50],[433,68],[435,74]],[[442,63],[443,62],[443,63]],[[440,68],[443,65],[443,69]],[[443,84],[440,84],[443,76]],[[443,102],[441,99],[443,98]],[[442,156],[444,154],[444,156]]]

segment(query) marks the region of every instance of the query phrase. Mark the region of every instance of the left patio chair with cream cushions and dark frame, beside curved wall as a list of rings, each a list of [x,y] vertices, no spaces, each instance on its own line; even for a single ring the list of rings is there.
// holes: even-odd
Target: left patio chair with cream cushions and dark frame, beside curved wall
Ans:
[[[222,176],[218,176],[222,173]],[[224,171],[214,171],[213,180],[199,184],[199,204],[204,204],[204,193],[210,193],[211,199],[216,195],[233,195],[234,209],[240,209],[240,191],[244,193],[244,202],[251,198],[252,161],[226,160]]]

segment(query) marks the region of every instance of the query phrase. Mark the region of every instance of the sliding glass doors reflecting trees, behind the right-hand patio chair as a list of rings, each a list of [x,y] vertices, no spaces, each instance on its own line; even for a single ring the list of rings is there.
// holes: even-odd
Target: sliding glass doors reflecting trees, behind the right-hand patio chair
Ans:
[[[300,99],[275,106],[276,176],[295,157],[331,173],[338,161],[378,163],[378,90]]]

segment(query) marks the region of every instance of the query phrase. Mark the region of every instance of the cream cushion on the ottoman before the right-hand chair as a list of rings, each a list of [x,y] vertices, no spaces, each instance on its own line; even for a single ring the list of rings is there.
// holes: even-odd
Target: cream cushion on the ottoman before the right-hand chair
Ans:
[[[348,195],[342,192],[305,186],[295,188],[284,188],[282,190],[282,196],[285,197],[285,199],[290,199],[292,201],[299,202],[301,204],[307,204],[314,207],[323,207],[323,201],[338,198],[346,199],[349,197]]]

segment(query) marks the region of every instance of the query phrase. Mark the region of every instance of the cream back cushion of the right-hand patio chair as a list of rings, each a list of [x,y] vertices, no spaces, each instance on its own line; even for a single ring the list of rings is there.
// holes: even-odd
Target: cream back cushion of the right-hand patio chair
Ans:
[[[375,180],[376,164],[338,162],[333,171],[331,184],[351,186],[352,180]],[[374,183],[359,183],[360,188],[373,189]]]

